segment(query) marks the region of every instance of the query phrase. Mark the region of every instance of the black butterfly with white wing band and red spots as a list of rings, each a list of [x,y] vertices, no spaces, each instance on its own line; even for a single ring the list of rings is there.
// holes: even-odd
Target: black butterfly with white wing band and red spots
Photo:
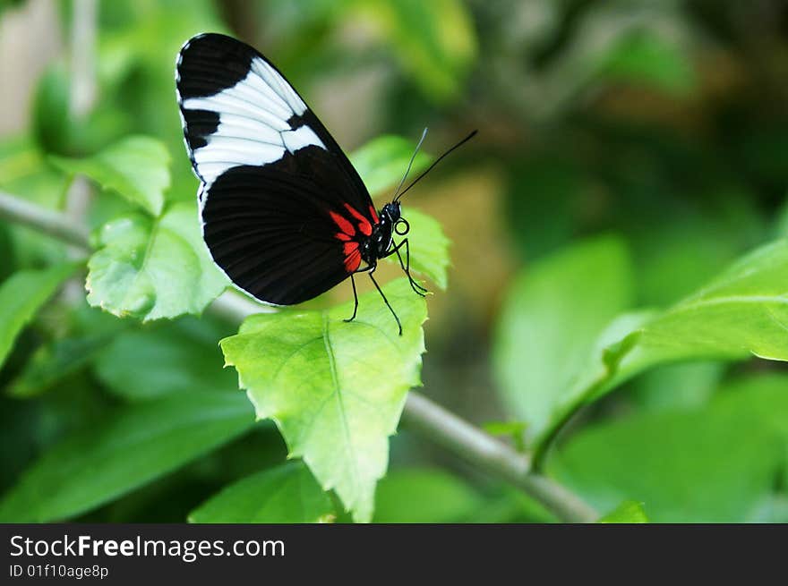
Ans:
[[[202,237],[218,268],[272,305],[313,299],[349,276],[354,307],[346,321],[358,310],[354,276],[366,273],[402,335],[374,272],[379,259],[396,254],[413,291],[426,293],[410,275],[409,225],[399,204],[413,183],[375,209],[304,99],[268,59],[235,38],[189,39],[177,56],[176,90],[186,150],[201,182]],[[395,236],[403,238],[394,242]]]

